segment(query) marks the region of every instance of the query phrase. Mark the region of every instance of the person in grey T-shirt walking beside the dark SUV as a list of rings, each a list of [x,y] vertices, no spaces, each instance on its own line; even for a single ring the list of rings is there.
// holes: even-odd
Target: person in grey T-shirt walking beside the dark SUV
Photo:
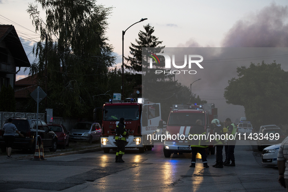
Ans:
[[[21,137],[24,137],[24,135],[21,134],[12,123],[12,118],[8,119],[8,123],[4,124],[2,129],[4,130],[3,138],[6,144],[7,158],[11,158],[12,146],[15,141],[15,132]]]

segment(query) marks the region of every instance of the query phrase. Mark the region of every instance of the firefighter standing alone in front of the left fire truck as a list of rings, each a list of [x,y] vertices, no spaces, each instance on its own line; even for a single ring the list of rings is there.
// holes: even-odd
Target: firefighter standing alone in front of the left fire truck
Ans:
[[[129,136],[129,133],[125,129],[125,119],[123,117],[120,118],[115,132],[115,141],[117,142],[115,162],[124,163],[125,161],[123,161],[122,156],[125,153],[125,142],[126,137]]]

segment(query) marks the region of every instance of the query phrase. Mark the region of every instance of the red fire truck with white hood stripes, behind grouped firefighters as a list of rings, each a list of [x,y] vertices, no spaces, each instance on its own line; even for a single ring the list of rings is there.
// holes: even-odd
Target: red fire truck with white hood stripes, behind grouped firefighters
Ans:
[[[213,104],[173,105],[166,127],[166,135],[171,135],[171,138],[164,141],[163,153],[165,157],[170,157],[173,153],[191,153],[188,136],[191,126],[195,124],[197,119],[202,120],[206,133],[211,133],[212,130],[209,125],[213,118],[217,118],[217,109],[214,110],[212,107],[214,108]],[[212,119],[210,119],[211,117]],[[183,135],[183,138],[175,135]],[[213,145],[209,145],[207,153],[215,154]]]

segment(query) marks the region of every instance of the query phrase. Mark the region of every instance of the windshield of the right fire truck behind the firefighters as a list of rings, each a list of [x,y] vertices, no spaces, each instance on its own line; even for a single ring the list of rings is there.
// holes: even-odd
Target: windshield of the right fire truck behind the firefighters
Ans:
[[[196,120],[200,119],[202,124],[205,122],[205,113],[171,113],[168,120],[170,126],[191,126],[195,125]]]

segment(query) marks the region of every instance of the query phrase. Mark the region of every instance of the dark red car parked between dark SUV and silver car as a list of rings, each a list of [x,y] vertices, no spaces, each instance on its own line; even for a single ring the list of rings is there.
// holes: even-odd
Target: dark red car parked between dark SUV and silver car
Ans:
[[[50,124],[48,126],[58,136],[58,147],[62,147],[63,149],[66,146],[69,147],[69,131],[67,132],[65,126],[62,124]]]

